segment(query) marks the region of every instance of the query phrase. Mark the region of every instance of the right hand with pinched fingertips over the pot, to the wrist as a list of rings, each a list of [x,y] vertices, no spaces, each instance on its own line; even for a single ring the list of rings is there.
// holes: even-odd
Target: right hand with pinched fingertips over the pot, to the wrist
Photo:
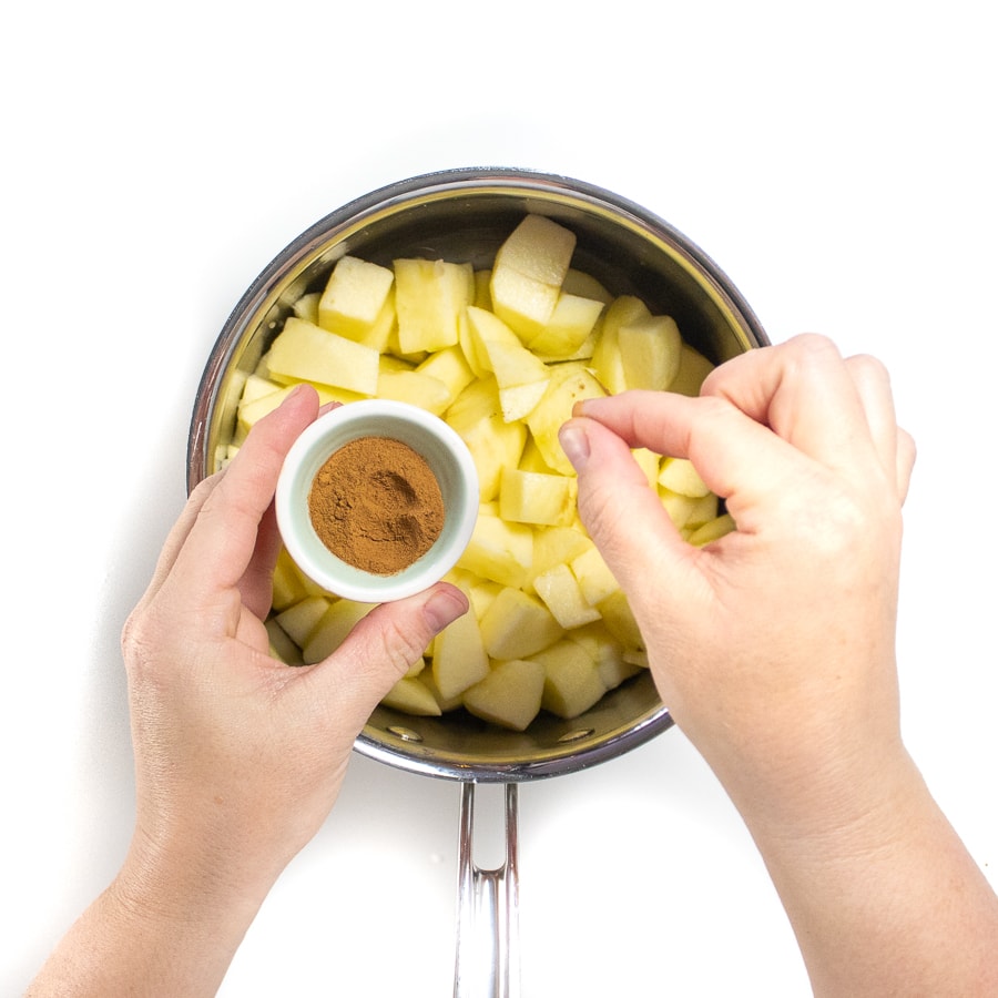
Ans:
[[[735,804],[848,821],[835,808],[906,757],[895,618],[915,449],[883,366],[801,336],[720,366],[699,398],[587,400],[562,446],[663,702]],[[736,531],[686,543],[632,447],[690,458]]]

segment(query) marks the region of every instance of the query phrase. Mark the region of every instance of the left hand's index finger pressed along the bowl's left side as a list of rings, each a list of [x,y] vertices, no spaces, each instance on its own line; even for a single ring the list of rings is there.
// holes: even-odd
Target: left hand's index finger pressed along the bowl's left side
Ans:
[[[273,501],[284,458],[317,411],[315,389],[299,385],[254,426],[218,478],[174,561],[193,599],[240,585],[253,562],[261,522]],[[274,553],[271,548],[273,544],[267,558]],[[255,563],[258,567],[261,562]],[[254,574],[259,577],[258,571]]]

